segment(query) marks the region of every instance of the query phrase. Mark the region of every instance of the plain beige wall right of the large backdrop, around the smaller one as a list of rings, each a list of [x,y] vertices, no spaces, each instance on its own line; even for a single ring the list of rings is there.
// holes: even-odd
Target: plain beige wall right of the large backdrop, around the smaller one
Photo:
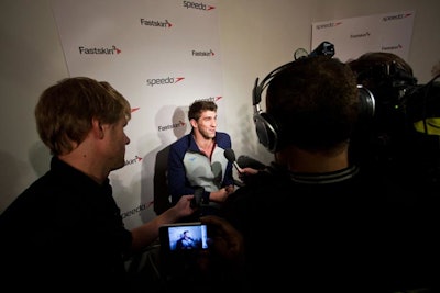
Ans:
[[[228,109],[228,129],[239,155],[272,158],[253,144],[251,90],[255,78],[294,58],[298,47],[310,49],[311,23],[386,12],[416,11],[413,44],[407,60],[419,82],[431,78],[431,67],[440,60],[440,2],[435,0],[274,0],[221,2],[221,44],[224,95],[237,103]],[[338,50],[338,48],[336,48]]]

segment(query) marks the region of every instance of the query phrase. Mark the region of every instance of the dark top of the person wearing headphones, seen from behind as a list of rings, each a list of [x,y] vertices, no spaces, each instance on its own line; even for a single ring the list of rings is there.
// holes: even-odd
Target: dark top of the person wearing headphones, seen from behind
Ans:
[[[433,286],[438,213],[397,187],[356,167],[320,174],[275,167],[250,177],[222,210],[244,235],[249,291]]]

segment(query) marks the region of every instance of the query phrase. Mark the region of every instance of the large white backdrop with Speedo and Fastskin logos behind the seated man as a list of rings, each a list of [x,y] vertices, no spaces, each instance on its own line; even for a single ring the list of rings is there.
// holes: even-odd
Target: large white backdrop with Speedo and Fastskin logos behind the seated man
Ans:
[[[138,226],[155,216],[154,203],[167,196],[167,146],[190,131],[189,104],[217,102],[219,131],[226,124],[217,1],[55,0],[52,5],[69,76],[107,80],[132,105],[125,167],[110,179],[127,227]]]

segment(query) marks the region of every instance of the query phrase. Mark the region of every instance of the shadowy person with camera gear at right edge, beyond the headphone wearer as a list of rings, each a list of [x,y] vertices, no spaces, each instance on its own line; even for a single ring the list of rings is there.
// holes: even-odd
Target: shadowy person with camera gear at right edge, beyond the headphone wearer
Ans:
[[[408,196],[437,196],[440,136],[429,120],[440,116],[439,83],[418,84],[409,64],[392,53],[365,53],[348,64],[375,98],[375,116],[359,125],[351,159],[381,170]]]

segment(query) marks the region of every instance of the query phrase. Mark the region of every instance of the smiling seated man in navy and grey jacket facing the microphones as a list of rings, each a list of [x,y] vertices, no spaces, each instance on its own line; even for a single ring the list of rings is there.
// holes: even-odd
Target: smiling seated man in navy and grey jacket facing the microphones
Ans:
[[[200,212],[216,214],[234,191],[232,164],[224,157],[224,150],[231,148],[231,137],[217,131],[217,104],[212,101],[194,102],[188,120],[191,132],[169,147],[167,177],[172,203],[202,188]]]

